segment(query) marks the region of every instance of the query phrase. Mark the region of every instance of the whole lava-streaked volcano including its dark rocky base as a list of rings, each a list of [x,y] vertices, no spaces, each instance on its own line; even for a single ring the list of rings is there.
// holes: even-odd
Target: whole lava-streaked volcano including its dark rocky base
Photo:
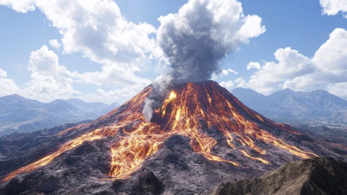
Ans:
[[[91,123],[4,137],[1,192],[208,194],[221,182],[286,162],[347,157],[346,147],[268,120],[215,81],[175,85],[146,123],[142,111],[151,91],[147,86]]]

